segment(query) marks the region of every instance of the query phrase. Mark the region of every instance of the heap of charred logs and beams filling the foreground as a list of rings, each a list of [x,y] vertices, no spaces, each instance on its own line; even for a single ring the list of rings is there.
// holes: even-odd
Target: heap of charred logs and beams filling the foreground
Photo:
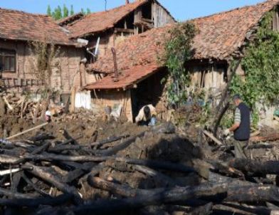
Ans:
[[[1,140],[1,209],[9,214],[278,212],[278,180],[267,176],[279,174],[279,162],[217,162],[202,134],[192,144],[167,123],[86,145],[66,130],[63,141],[46,133]]]

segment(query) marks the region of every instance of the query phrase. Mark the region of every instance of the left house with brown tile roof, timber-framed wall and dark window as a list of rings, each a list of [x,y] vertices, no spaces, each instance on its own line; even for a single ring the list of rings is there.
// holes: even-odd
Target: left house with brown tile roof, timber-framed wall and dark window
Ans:
[[[0,64],[2,80],[9,90],[36,90],[43,80],[35,74],[36,53],[31,41],[60,47],[51,62],[51,87],[69,93],[73,86],[83,85],[84,58],[82,44],[68,38],[67,31],[51,17],[22,11],[0,9]]]

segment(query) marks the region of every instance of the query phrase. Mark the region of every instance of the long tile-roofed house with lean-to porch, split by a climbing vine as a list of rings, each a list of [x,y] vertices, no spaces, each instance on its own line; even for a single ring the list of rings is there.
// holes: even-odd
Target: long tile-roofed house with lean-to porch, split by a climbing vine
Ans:
[[[213,90],[223,88],[230,75],[233,58],[243,57],[243,48],[253,38],[258,23],[277,5],[278,1],[265,1],[192,20],[199,28],[194,38],[194,56],[186,62],[192,84]],[[274,16],[273,26],[278,29],[278,14]],[[167,68],[159,63],[158,56],[164,53],[164,40],[171,27],[154,28],[117,44],[118,73],[113,72],[115,63],[110,53],[91,65],[94,73],[106,74],[105,78],[85,87],[92,90],[92,103],[96,110],[106,105],[121,104],[125,115],[132,120],[142,105],[152,103],[161,117],[165,117],[167,103],[161,80]],[[245,75],[241,67],[238,73]]]

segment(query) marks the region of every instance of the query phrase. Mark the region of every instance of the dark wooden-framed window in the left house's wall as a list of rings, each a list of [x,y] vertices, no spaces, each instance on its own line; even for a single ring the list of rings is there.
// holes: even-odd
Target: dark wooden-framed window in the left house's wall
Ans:
[[[6,68],[6,61],[9,61],[9,68]],[[14,69],[11,69],[12,61],[14,61]],[[2,64],[2,72],[16,73],[16,50],[0,48],[0,63]]]

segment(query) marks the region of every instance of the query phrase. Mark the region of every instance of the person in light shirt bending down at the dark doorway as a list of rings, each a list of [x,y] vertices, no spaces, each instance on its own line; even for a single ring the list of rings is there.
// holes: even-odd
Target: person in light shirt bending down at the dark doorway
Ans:
[[[145,105],[139,110],[139,114],[136,117],[137,125],[156,125],[156,108],[153,105]]]

